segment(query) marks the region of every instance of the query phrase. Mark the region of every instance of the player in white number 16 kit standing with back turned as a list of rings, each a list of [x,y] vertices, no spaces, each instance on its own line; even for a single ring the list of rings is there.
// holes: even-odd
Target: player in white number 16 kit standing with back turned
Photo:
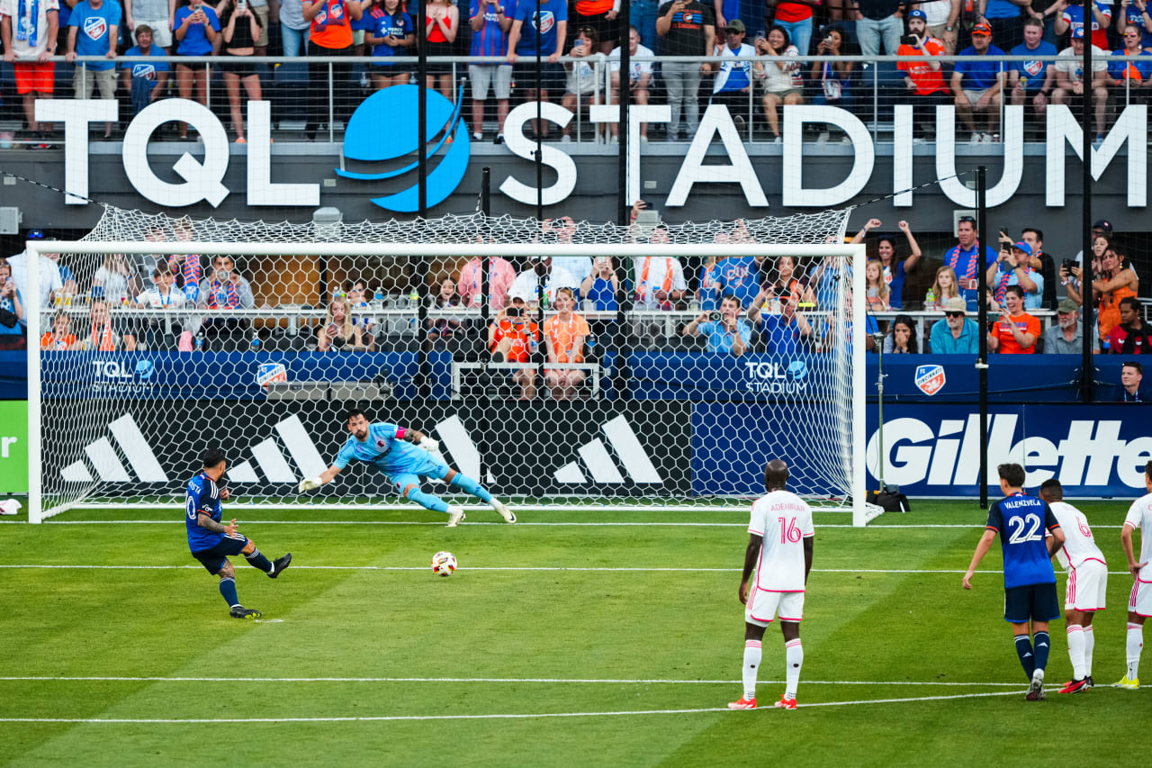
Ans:
[[[799,642],[799,620],[804,616],[804,587],[812,570],[812,510],[804,499],[785,490],[788,465],[768,461],[764,485],[768,494],[752,504],[748,524],[748,549],[740,580],[740,602],[744,604],[744,695],[729,709],[756,709],[756,675],[760,665],[764,630],[779,615],[785,635],[787,663],[785,693],[778,709],[796,708],[796,685],[804,663]],[[752,570],[756,570],[755,582]],[[751,587],[750,587],[751,583]]]

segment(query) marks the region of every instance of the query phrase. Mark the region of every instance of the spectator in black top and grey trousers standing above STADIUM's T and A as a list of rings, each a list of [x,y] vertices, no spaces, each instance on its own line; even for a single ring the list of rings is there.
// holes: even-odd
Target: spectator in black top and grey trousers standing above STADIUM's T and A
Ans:
[[[664,38],[665,55],[706,57],[712,55],[715,43],[715,14],[711,3],[698,0],[669,0],[657,12],[655,31]],[[672,120],[668,122],[668,141],[680,138],[680,121],[683,114],[688,123],[688,136],[696,135],[700,125],[700,75],[712,71],[708,63],[695,61],[665,61],[660,74],[668,91]]]

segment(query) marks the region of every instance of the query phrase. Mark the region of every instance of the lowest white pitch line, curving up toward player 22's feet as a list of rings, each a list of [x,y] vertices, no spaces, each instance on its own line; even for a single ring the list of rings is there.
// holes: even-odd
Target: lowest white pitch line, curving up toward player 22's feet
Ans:
[[[961,693],[947,697],[911,697],[908,699],[862,699],[857,701],[825,701],[810,705],[801,705],[801,709],[809,707],[848,707],[859,705],[878,703],[908,703],[914,701],[947,701],[952,699],[980,699],[988,697],[1011,697],[1020,695],[1021,691],[994,691],[990,693]],[[772,707],[761,707],[759,710],[771,711]],[[445,720],[543,720],[554,717],[627,717],[637,715],[696,715],[710,711],[735,713],[746,711],[728,709],[727,707],[700,707],[695,709],[631,709],[624,711],[550,711],[550,713],[515,713],[498,715],[379,715],[358,717],[0,717],[0,723],[77,723],[77,724],[100,724],[100,725],[217,725],[217,724],[243,724],[243,723],[379,723],[396,721],[445,721]]]

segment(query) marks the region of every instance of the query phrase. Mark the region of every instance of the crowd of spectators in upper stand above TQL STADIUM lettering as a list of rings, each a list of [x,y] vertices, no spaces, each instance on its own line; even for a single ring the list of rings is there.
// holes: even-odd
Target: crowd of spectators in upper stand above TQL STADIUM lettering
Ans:
[[[335,130],[334,125],[347,120],[372,91],[415,82],[415,66],[395,60],[415,54],[415,1],[123,0],[121,6],[119,0],[2,0],[0,33],[22,97],[22,140],[43,148],[61,140],[52,125],[36,120],[36,98],[91,98],[98,91],[101,99],[118,99],[120,118],[127,120],[159,98],[180,96],[209,105],[214,92],[227,98],[218,97],[212,106],[232,122],[235,141],[244,143],[242,99],[260,99],[273,86],[290,89],[286,95],[302,105],[305,134],[314,138],[324,123]],[[659,129],[672,141],[685,137],[685,131],[691,137],[710,103],[733,107],[737,127],[751,120],[766,127],[766,137],[779,141],[781,105],[870,111],[872,99],[857,97],[871,88],[873,77],[885,89],[884,103],[911,103],[917,110],[954,104],[970,141],[978,143],[999,141],[1001,104],[1029,105],[1043,118],[1048,104],[1069,104],[1089,86],[1096,133],[1102,134],[1114,112],[1109,103],[1144,103],[1152,88],[1152,17],[1144,0],[1091,3],[1089,38],[1097,59],[1089,83],[1073,60],[1085,44],[1083,0],[629,0],[629,30],[621,29],[622,1],[540,0],[547,23],[538,39],[536,2],[427,0],[429,55],[495,57],[502,63],[461,61],[456,69],[450,62],[430,62],[426,85],[455,100],[453,75],[467,71],[473,138],[487,135],[498,144],[503,142],[514,83],[516,99],[537,97],[538,44],[539,98],[575,107],[619,98],[624,31],[636,57],[629,73],[632,98],[672,107],[670,122]],[[265,54],[285,59],[275,67],[245,60]],[[865,76],[866,66],[838,61],[852,54],[923,61],[881,62]],[[962,57],[955,65],[935,60],[953,54]],[[1059,58],[988,58],[1005,54]],[[76,62],[77,55],[101,59]],[[179,61],[204,55],[228,61]],[[746,59],[753,55],[766,59]],[[827,59],[808,65],[797,61],[798,55]],[[119,57],[143,60],[116,61]],[[327,63],[293,63],[305,57],[371,57],[372,62],[332,65],[329,89]],[[711,60],[661,60],[665,57]],[[295,74],[274,75],[280,67],[281,75],[289,69]],[[600,67],[609,73],[607,83],[597,76]],[[223,88],[213,89],[218,76]],[[329,95],[335,107],[331,120]],[[490,111],[492,119],[486,120]],[[930,126],[917,120],[918,136],[930,133]],[[118,123],[108,122],[98,137],[114,138],[116,130]],[[176,137],[189,136],[187,125],[177,130]],[[555,138],[548,136],[546,122],[537,130],[541,138]],[[642,141],[647,136],[644,126]],[[559,141],[570,138],[569,127]]]

